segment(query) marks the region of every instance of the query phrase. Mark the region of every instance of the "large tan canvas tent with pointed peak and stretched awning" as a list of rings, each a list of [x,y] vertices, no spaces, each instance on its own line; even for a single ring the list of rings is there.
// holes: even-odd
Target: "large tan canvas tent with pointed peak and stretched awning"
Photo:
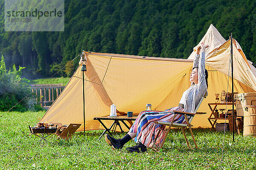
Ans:
[[[194,127],[210,127],[209,102],[215,102],[215,93],[231,91],[230,40],[224,40],[214,26],[210,26],[199,42],[208,44],[206,68],[208,70],[208,96],[196,115]],[[110,105],[116,105],[118,114],[128,111],[140,113],[151,103],[153,110],[163,111],[177,106],[184,91],[190,86],[189,74],[195,51],[188,59],[142,57],[122,54],[84,52],[87,71],[84,72],[85,130],[103,129],[93,117],[108,116]],[[234,91],[256,91],[256,68],[247,61],[240,45],[233,39]],[[229,71],[230,69],[230,71]],[[81,63],[64,91],[58,96],[40,122],[61,122],[83,125],[83,84]],[[229,79],[229,81],[228,81]],[[112,122],[106,121],[106,125]],[[131,122],[130,122],[131,123]],[[127,128],[123,127],[127,130]]]

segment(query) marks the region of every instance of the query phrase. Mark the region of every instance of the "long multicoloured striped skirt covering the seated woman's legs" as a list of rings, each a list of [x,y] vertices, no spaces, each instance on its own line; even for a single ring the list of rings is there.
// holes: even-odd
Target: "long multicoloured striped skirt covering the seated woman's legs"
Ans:
[[[170,108],[166,111],[142,111],[138,115],[134,124],[132,125],[129,132],[137,133],[137,136],[134,138],[135,142],[141,142],[147,147],[152,147],[154,143],[154,135],[158,133],[158,131],[165,128],[165,125],[155,124],[154,121],[172,121],[174,116],[174,111],[184,111],[183,108],[176,106],[174,108]],[[175,123],[186,124],[186,119],[183,115],[176,115]],[[159,144],[164,138],[164,131],[161,130],[159,134],[159,138],[156,141],[156,144]]]

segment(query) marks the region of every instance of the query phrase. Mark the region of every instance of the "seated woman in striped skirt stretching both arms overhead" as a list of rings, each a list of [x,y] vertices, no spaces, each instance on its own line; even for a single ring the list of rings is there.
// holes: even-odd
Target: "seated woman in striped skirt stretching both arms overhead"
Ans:
[[[189,81],[191,82],[190,87],[183,93],[179,106],[170,108],[166,111],[142,111],[128,134],[122,139],[115,139],[108,134],[105,135],[106,142],[113,149],[121,149],[125,143],[134,139],[138,144],[133,147],[127,147],[129,152],[145,152],[147,147],[153,145],[154,134],[158,133],[160,128],[165,128],[165,126],[157,125],[154,127],[154,121],[171,121],[174,116],[174,111],[185,111],[193,113],[198,103],[200,102],[202,96],[207,91],[208,87],[208,73],[205,69],[205,48],[208,45],[200,45],[197,48],[197,52],[193,62],[193,69],[190,74]],[[201,56],[200,56],[201,51]],[[183,115],[177,115],[174,120],[175,123],[186,123]],[[160,137],[156,141],[156,144],[160,143],[164,137],[163,131],[160,132]]]

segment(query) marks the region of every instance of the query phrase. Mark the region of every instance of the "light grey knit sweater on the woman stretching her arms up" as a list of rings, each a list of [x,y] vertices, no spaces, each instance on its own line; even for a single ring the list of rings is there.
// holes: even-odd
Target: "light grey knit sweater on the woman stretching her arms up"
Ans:
[[[183,93],[185,96],[184,111],[193,113],[204,93],[207,91],[205,80],[205,52],[195,55],[193,68],[198,67],[198,84],[191,83],[190,87]]]

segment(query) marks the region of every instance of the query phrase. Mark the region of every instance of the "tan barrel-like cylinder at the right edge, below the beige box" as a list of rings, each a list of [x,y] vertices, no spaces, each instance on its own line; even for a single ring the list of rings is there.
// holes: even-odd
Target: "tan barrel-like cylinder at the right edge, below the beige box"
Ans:
[[[244,111],[244,133],[243,136],[256,136],[256,106],[247,105]]]

